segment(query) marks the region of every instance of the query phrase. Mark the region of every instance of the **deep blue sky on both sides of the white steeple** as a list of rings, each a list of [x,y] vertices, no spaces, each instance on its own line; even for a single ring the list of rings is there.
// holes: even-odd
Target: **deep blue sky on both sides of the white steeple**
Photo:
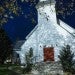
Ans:
[[[71,1],[71,0],[58,0],[58,1],[63,1],[64,4],[63,7],[65,8],[67,1]],[[58,1],[56,2],[57,5],[58,5]],[[36,4],[37,3],[38,0],[36,0]],[[7,32],[7,35],[10,37],[10,39],[13,42],[15,42],[17,39],[24,40],[25,37],[31,32],[31,30],[38,24],[38,14],[35,8],[35,4],[33,4],[32,6],[30,6],[31,3],[18,2],[18,4],[22,8],[23,14],[21,13],[20,16],[14,16],[13,19],[9,19],[9,21],[5,25],[3,25],[3,28]],[[75,10],[75,7],[73,7],[73,10]],[[29,14],[31,14],[31,16]],[[26,17],[26,15],[29,16]],[[57,17],[75,28],[75,23],[74,23],[75,13],[73,13],[70,16],[66,15],[65,18],[63,18],[61,14],[59,14]],[[32,18],[35,19],[34,23],[32,23],[31,21]]]

